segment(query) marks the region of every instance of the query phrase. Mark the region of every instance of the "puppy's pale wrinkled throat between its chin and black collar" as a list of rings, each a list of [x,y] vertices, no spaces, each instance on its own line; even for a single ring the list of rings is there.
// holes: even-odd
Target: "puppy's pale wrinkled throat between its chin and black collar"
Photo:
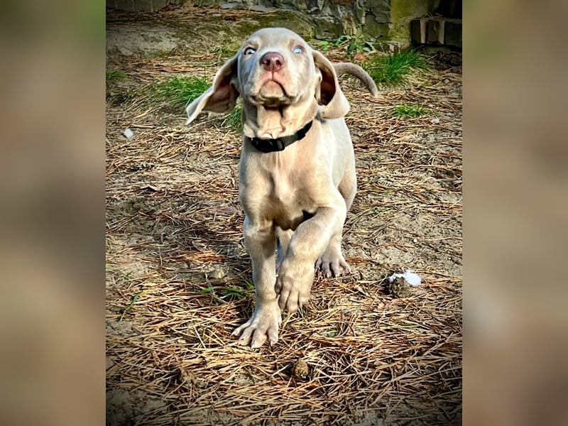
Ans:
[[[317,102],[309,104],[280,105],[263,107],[262,105],[244,105],[243,132],[249,138],[274,139],[296,133],[317,114]]]

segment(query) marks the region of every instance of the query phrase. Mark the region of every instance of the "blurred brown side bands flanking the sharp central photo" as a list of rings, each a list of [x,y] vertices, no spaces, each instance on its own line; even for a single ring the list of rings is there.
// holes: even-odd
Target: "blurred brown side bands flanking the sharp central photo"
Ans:
[[[104,6],[9,1],[0,38],[0,418],[104,416]],[[562,1],[464,7],[464,423],[564,425]]]

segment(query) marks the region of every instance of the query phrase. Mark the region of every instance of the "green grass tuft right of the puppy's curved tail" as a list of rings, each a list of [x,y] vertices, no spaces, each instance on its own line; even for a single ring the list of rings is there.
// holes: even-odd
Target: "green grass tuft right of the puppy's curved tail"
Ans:
[[[408,82],[408,77],[420,70],[430,70],[426,58],[413,49],[374,56],[364,62],[363,67],[375,82],[388,86]]]

